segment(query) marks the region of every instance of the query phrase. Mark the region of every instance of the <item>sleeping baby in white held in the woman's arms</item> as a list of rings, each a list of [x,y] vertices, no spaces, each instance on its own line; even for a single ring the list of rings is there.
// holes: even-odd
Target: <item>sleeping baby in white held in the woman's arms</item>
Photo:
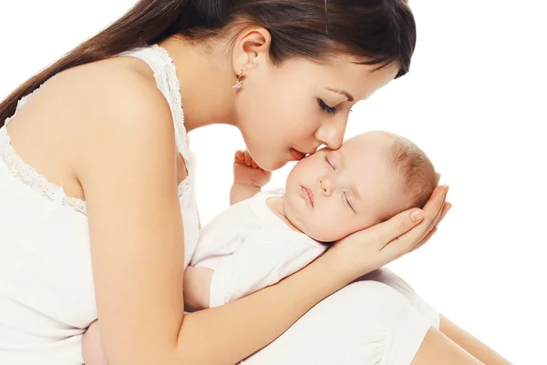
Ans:
[[[387,132],[365,133],[337,150],[305,157],[291,170],[284,193],[260,191],[269,177],[248,154],[236,154],[233,205],[201,229],[185,271],[186,310],[273,285],[320,256],[328,243],[423,208],[437,186],[428,157]],[[98,336],[93,333],[86,336]],[[85,354],[88,343],[94,340],[84,340]]]

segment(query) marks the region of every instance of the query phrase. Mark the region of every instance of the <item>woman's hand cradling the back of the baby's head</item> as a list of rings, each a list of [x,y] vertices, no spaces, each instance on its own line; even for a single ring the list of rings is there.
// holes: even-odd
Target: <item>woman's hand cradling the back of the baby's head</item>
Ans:
[[[437,225],[451,207],[446,202],[448,189],[435,188],[423,209],[409,209],[343,238],[325,255],[335,255],[338,262],[343,262],[341,267],[346,269],[349,282],[421,247],[437,231]]]

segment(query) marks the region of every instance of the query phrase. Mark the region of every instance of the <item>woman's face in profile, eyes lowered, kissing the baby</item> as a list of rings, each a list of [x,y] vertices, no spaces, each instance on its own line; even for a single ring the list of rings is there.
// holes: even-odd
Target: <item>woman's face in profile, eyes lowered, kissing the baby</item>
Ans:
[[[351,107],[397,75],[396,66],[374,71],[377,66],[355,61],[263,62],[245,76],[236,97],[237,126],[260,167],[275,170],[321,145],[341,146]]]

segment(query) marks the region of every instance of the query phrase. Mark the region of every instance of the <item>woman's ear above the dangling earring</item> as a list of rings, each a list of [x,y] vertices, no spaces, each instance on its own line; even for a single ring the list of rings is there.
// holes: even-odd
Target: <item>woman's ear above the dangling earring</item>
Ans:
[[[234,75],[249,75],[268,62],[272,37],[262,26],[246,28],[237,37],[232,50]]]

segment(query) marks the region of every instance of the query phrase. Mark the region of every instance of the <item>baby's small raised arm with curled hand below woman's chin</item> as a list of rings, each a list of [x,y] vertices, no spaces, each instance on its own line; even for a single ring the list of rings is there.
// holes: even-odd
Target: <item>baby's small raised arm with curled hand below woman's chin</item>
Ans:
[[[233,160],[233,185],[230,190],[230,205],[253,198],[260,193],[272,173],[256,165],[247,151],[237,151]]]

